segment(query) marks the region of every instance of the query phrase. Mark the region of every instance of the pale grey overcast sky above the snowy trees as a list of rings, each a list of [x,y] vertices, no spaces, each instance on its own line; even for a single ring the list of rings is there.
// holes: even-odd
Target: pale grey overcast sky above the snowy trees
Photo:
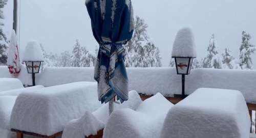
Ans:
[[[242,31],[256,45],[256,1],[244,0],[133,0],[134,13],[148,25],[150,40],[160,48],[163,66],[167,66],[175,35],[190,27],[197,45],[198,58],[206,56],[211,34],[215,34],[219,52],[229,47],[238,58]],[[5,7],[6,29],[10,35],[13,2]],[[72,50],[75,39],[94,51],[97,45],[91,31],[84,0],[22,0],[20,5],[20,52],[29,40],[40,41],[46,51]],[[256,56],[253,57],[254,68]]]

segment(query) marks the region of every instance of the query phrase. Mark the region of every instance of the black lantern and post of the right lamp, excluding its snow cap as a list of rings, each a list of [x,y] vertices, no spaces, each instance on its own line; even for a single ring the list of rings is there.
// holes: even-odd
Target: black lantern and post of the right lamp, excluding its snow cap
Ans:
[[[175,97],[181,97],[182,99],[186,98],[185,95],[185,75],[188,75],[191,70],[191,65],[193,63],[193,59],[191,57],[184,58],[184,57],[173,57],[175,58],[176,70],[177,74],[181,74],[182,80],[182,95],[175,95]]]

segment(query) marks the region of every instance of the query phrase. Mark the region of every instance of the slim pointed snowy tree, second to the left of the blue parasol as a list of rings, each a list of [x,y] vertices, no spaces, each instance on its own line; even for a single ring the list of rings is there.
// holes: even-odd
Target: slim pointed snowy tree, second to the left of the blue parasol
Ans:
[[[71,57],[71,66],[80,67],[80,61],[82,57],[82,47],[78,40],[76,40]]]

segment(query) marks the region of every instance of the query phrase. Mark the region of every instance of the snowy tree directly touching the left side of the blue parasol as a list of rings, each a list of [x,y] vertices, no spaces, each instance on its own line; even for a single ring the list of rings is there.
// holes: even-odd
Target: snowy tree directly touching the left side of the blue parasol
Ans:
[[[85,46],[82,46],[82,56],[80,59],[80,67],[94,67],[96,57],[88,51]]]

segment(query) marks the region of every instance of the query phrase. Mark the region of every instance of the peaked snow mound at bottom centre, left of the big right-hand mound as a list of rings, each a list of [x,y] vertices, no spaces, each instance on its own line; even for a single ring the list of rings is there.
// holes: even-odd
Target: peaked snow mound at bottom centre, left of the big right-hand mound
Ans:
[[[120,109],[112,113],[104,128],[104,138],[159,137],[164,118],[173,106],[160,93],[146,99],[133,111]]]

